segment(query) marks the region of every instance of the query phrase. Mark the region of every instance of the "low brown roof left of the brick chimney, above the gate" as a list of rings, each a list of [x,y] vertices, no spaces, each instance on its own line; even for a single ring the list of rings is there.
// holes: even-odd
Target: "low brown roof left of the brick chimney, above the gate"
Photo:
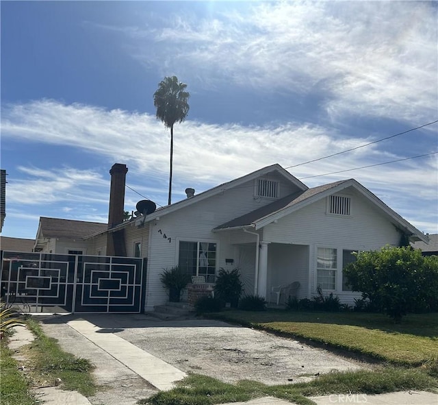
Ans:
[[[97,232],[104,232],[107,228],[107,223],[40,217],[38,236],[44,238],[85,238]]]

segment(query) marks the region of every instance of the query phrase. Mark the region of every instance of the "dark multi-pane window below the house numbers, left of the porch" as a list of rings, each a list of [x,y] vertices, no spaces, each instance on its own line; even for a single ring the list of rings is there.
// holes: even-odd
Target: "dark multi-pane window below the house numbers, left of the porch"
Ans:
[[[191,275],[216,273],[216,243],[179,242],[179,267]]]

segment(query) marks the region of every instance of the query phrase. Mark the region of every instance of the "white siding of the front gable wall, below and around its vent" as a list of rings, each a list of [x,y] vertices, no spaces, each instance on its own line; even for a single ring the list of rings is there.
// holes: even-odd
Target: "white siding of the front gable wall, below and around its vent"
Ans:
[[[353,188],[343,192],[346,193],[352,197],[350,217],[326,214],[326,199],[322,199],[264,228],[264,241],[309,245],[309,297],[316,290],[315,256],[318,247],[337,248],[341,261],[339,254],[342,254],[342,249],[376,250],[387,244],[398,245],[400,241],[400,233],[374,204]],[[339,295],[342,302],[353,304],[354,298],[360,294],[342,291],[341,271],[337,275],[333,293]]]

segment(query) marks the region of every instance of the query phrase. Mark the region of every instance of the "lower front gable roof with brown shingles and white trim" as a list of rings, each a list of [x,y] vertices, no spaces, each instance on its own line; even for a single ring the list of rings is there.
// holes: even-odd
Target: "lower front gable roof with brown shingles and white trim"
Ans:
[[[417,228],[411,225],[411,223],[402,218],[399,214],[397,214],[397,212],[389,208],[389,206],[387,206],[381,199],[376,197],[376,195],[371,193],[368,188],[365,188],[354,179],[324,184],[322,186],[309,188],[303,193],[289,195],[279,201],[274,201],[274,203],[269,204],[268,206],[259,208],[258,210],[250,212],[242,217],[238,217],[232,221],[219,225],[217,228],[215,228],[215,230],[218,231],[231,228],[244,228],[249,226],[258,230],[269,223],[285,217],[287,214],[291,214],[300,208],[303,208],[309,204],[313,204],[313,202],[325,198],[328,195],[339,193],[348,187],[355,188],[355,190],[359,191],[359,193],[361,193],[365,198],[380,208],[381,212],[383,212],[383,214],[385,214],[385,216],[387,216],[389,220],[394,223],[394,225],[397,225],[398,228],[401,228],[404,232],[407,232],[407,234],[410,234],[418,241],[424,241],[427,243],[428,238],[426,235],[420,232],[420,230],[417,230]]]

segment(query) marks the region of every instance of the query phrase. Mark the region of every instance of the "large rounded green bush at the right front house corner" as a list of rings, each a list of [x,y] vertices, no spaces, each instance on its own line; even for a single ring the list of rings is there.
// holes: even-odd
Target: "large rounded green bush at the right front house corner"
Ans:
[[[438,258],[411,247],[363,251],[344,269],[353,291],[400,321],[408,312],[438,310]]]

